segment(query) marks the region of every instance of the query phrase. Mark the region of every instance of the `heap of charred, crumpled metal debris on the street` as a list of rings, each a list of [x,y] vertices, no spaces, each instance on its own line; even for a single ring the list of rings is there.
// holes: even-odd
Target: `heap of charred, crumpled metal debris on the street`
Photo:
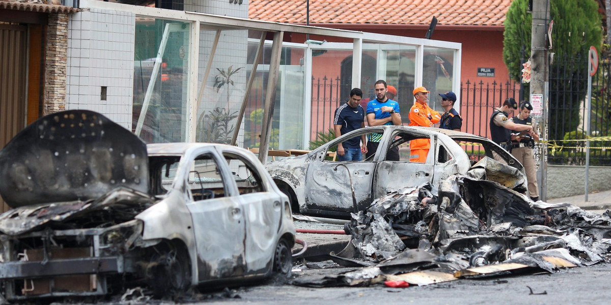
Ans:
[[[296,285],[426,285],[459,278],[552,273],[611,261],[611,218],[573,204],[533,202],[497,182],[450,176],[405,187],[352,214],[346,248],[331,258],[354,270]]]

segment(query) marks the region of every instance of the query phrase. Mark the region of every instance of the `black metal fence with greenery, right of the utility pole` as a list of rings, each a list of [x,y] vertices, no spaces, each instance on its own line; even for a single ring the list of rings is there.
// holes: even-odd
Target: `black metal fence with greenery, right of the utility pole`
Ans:
[[[585,165],[588,92],[587,54],[557,59],[550,71],[549,146],[552,164]],[[599,63],[592,76],[590,165],[611,165],[611,63]]]

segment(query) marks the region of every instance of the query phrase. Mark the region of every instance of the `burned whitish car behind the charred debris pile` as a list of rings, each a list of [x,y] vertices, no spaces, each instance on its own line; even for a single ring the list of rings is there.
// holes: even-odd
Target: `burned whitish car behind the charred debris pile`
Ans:
[[[371,133],[382,134],[373,156],[359,162],[326,157],[329,148],[338,143]],[[425,163],[409,161],[409,141],[417,138],[428,138],[431,143]],[[386,160],[386,152],[397,148],[400,160]],[[518,192],[527,188],[521,163],[496,143],[473,134],[430,127],[357,129],[308,154],[270,162],[265,167],[290,197],[293,212],[332,218],[347,218],[351,212],[366,209],[373,199],[402,187],[439,185],[452,174],[470,174]]]

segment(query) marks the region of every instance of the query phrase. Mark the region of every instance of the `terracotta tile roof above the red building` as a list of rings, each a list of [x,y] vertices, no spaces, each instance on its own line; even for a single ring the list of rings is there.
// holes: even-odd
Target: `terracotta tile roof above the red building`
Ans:
[[[249,18],[305,24],[307,0],[250,0]],[[511,0],[309,0],[310,24],[502,26]]]

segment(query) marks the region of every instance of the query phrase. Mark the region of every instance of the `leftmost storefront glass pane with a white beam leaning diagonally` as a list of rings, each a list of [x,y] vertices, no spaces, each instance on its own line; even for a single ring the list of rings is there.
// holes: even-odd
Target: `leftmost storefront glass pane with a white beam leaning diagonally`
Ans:
[[[132,129],[146,143],[186,142],[190,28],[136,18]]]

